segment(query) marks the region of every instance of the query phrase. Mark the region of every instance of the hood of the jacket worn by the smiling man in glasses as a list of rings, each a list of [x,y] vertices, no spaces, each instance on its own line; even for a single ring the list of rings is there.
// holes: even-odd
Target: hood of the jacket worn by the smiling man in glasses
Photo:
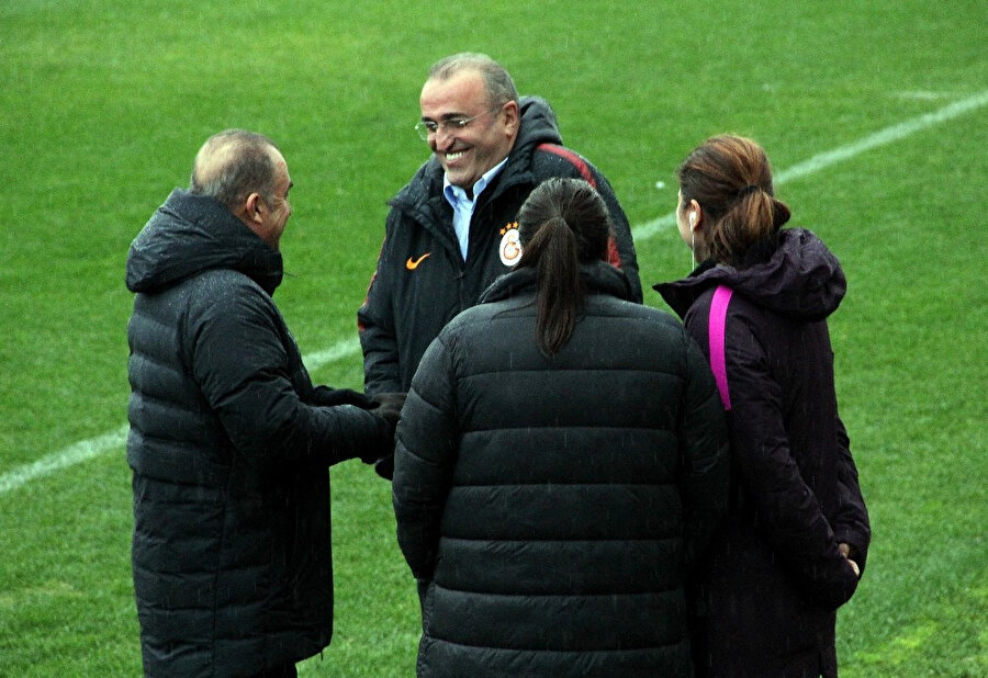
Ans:
[[[501,178],[506,178],[507,181],[497,181],[493,188],[494,192],[504,190],[516,179],[528,180],[531,155],[540,144],[562,144],[555,113],[548,101],[541,97],[523,97],[518,103],[521,115],[518,138],[515,139],[508,161],[501,172]],[[415,213],[419,210],[428,211],[430,201],[445,202],[442,174],[442,165],[434,154],[389,204],[403,212]],[[428,222],[428,217],[423,221]]]

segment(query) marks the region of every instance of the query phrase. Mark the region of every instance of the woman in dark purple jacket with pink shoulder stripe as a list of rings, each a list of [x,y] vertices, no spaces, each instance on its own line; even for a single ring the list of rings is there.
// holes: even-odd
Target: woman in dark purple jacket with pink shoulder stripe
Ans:
[[[813,234],[781,229],[789,210],[754,142],[708,139],[677,177],[680,233],[703,264],[655,290],[715,375],[718,358],[723,365],[734,470],[731,515],[701,577],[697,670],[837,676],[837,608],[857,587],[871,539],[827,329],[844,274]],[[719,286],[732,292],[720,323]]]

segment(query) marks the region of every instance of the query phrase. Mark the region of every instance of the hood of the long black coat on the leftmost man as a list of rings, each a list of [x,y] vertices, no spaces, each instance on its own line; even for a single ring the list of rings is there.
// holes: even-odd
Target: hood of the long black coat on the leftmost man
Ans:
[[[273,294],[281,253],[214,199],[176,189],[127,252],[131,292],[156,293],[212,269],[233,269]]]

